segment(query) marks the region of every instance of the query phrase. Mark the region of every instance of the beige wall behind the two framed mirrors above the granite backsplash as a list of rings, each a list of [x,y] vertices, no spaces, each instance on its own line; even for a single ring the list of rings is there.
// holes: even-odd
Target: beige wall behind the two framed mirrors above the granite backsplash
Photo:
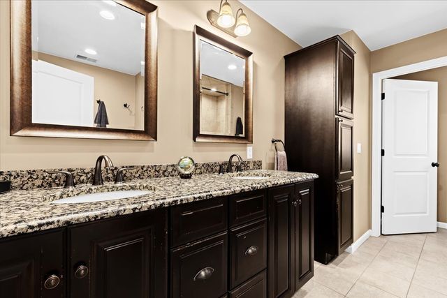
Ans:
[[[223,161],[246,155],[244,144],[192,141],[192,30],[195,24],[254,53],[254,159],[272,167],[272,137],[284,137],[284,54],[300,48],[244,7],[252,32],[232,38],[214,29],[207,10],[217,1],[152,1],[159,6],[158,142],[9,136],[9,1],[0,1],[0,170],[93,166],[99,154],[115,164],[175,163],[180,156]],[[242,4],[231,1],[236,10]],[[268,36],[268,38],[266,38]]]

